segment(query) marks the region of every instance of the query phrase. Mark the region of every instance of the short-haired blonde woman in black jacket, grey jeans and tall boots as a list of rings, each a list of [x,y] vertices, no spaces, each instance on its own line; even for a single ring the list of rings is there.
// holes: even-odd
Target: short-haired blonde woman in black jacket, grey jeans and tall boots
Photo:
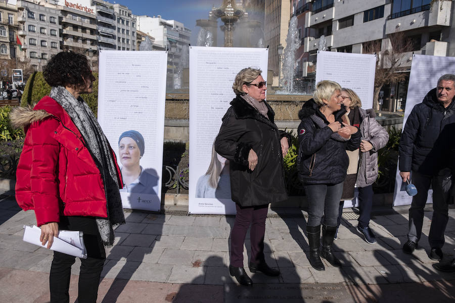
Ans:
[[[325,270],[319,252],[323,215],[321,256],[333,266],[341,266],[331,247],[349,164],[346,149],[355,150],[360,145],[358,128],[343,120],[346,109],[342,102],[341,86],[325,80],[316,84],[313,98],[305,102],[299,112],[302,120],[298,128],[299,178],[305,185],[308,201],[309,261],[316,270]]]

